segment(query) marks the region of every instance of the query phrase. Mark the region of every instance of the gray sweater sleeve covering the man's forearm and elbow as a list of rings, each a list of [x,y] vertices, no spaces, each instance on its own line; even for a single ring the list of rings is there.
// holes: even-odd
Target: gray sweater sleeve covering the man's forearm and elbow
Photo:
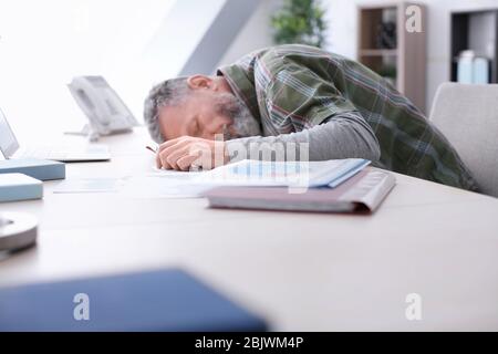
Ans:
[[[370,125],[356,112],[340,114],[298,133],[252,136],[228,140],[230,162],[245,158],[274,160],[326,160],[365,158],[375,163],[381,152]]]

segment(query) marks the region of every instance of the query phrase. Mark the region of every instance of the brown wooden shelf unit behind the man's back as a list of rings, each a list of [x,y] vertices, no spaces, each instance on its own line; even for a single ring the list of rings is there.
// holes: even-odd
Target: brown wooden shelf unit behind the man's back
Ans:
[[[415,4],[422,10],[422,31],[405,30],[407,7]],[[394,48],[382,48],[378,28],[383,22],[395,25]],[[426,8],[415,2],[391,2],[359,7],[357,61],[391,77],[395,87],[425,112],[426,85]],[[392,74],[391,74],[392,75]]]

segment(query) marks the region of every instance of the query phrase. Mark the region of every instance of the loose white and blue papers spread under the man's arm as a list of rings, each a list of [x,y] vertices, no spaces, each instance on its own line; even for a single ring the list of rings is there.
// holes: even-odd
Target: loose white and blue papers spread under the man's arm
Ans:
[[[117,192],[136,198],[201,197],[219,186],[334,188],[370,164],[361,158],[326,162],[260,162],[245,159],[207,171],[155,169],[138,176],[66,180],[54,192]]]

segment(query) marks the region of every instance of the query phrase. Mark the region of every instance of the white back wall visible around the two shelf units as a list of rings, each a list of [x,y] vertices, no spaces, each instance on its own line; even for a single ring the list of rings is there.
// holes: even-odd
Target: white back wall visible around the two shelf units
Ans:
[[[356,58],[356,7],[390,0],[323,0],[329,7],[328,49],[345,56]],[[427,107],[430,107],[437,86],[449,81],[450,12],[498,8],[498,0],[425,0],[427,7]],[[427,110],[428,111],[428,110]]]

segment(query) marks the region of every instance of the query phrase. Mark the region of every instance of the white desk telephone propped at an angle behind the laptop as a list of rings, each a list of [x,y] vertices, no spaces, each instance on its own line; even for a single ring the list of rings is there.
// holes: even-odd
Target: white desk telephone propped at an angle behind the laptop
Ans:
[[[76,76],[68,87],[96,136],[129,132],[138,125],[132,112],[102,76]],[[87,131],[87,129],[86,129]]]

